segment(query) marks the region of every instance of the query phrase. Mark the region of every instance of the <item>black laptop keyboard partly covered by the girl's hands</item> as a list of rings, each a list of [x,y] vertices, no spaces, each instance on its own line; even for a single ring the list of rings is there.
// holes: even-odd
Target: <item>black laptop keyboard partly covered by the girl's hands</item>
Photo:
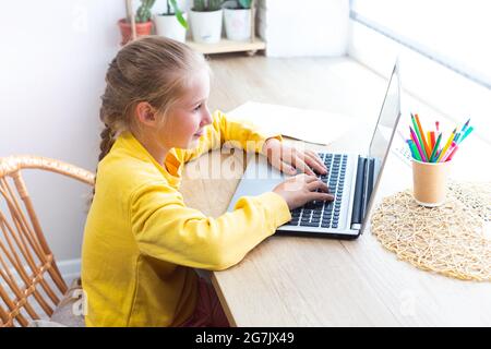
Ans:
[[[291,210],[291,220],[287,224],[299,227],[337,228],[345,185],[347,155],[319,153],[327,168],[327,174],[319,178],[327,184],[333,202],[314,201]]]

